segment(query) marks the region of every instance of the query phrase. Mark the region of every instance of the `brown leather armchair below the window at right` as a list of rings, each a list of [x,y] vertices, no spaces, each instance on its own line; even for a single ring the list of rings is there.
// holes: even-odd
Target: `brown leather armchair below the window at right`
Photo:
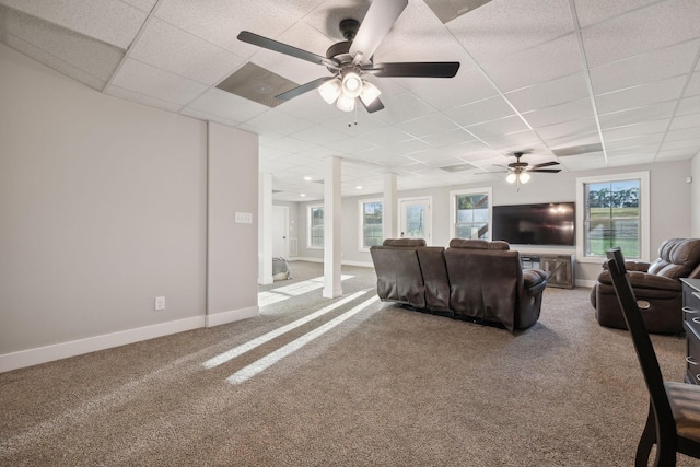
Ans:
[[[622,252],[625,253],[625,252]],[[682,332],[682,287],[680,278],[700,278],[700,238],[669,238],[658,247],[652,262],[626,261],[637,300],[649,303],[641,310],[649,332]],[[600,326],[627,329],[615,294],[607,264],[591,290],[591,304]]]

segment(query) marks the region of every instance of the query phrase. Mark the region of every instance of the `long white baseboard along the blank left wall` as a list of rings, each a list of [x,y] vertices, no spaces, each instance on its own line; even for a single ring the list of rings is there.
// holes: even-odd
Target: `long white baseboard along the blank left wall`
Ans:
[[[83,353],[95,352],[97,350],[126,346],[127,343],[140,342],[142,340],[154,339],[185,330],[197,329],[203,327],[205,324],[205,316],[194,316],[175,322],[161,323],[52,346],[5,353],[0,355],[0,373],[67,359],[69,357],[82,355]]]

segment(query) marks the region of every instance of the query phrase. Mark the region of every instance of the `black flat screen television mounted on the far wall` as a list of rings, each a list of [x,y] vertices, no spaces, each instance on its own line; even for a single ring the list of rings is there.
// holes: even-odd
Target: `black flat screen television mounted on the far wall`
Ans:
[[[493,240],[516,245],[574,245],[574,202],[493,207]]]

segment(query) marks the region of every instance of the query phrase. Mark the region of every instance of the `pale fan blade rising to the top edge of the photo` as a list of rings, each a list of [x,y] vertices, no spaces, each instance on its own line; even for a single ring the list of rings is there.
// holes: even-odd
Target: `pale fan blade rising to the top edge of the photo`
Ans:
[[[350,46],[350,56],[355,62],[362,65],[370,62],[374,50],[407,5],[408,0],[374,0],[370,4]],[[358,56],[358,54],[361,55]]]

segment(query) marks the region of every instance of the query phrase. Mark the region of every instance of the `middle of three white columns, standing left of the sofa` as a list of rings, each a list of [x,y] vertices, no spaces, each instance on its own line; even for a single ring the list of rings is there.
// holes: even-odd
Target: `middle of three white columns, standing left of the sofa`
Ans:
[[[340,157],[328,157],[324,162],[324,290],[322,295],[326,299],[335,299],[342,295]]]

